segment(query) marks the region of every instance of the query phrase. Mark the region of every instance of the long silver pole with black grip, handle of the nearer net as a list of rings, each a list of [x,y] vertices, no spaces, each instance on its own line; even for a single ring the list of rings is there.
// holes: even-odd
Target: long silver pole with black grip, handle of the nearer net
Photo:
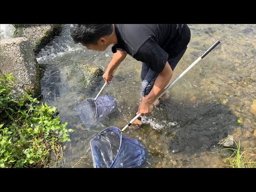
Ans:
[[[209,49],[207,49],[197,60],[195,60],[185,71],[183,71],[182,74],[179,75],[179,77],[177,77],[169,86],[167,86],[165,88],[165,90],[155,99],[155,101],[157,99],[159,99],[164,93],[166,93],[177,81],[179,81],[179,79],[181,77],[183,77],[192,67],[194,67],[196,65],[196,63],[198,63],[198,61],[202,60],[208,53],[210,53],[215,46],[217,46],[220,43],[219,40],[217,40],[215,43],[212,44],[212,46],[209,47]],[[155,102],[154,101],[154,102]],[[139,116],[141,116],[141,114],[139,113],[138,115],[136,115],[130,122],[129,124],[125,125],[124,128],[122,129],[122,132],[129,127],[137,118],[139,118]]]

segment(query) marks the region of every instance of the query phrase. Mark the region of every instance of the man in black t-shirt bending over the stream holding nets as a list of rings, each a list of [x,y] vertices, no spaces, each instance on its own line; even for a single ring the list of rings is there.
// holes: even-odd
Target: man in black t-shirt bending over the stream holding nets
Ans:
[[[142,101],[137,112],[142,116],[151,113],[153,104],[159,105],[155,100],[170,82],[190,41],[186,24],[71,24],[70,34],[75,43],[89,50],[105,51],[114,45],[113,59],[103,74],[106,83],[127,53],[142,61]],[[161,97],[167,98],[167,94]]]

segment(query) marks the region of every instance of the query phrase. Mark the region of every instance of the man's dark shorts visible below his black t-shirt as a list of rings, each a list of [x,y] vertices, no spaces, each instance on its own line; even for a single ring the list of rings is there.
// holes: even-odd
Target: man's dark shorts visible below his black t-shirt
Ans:
[[[175,67],[177,66],[178,62],[180,61],[180,59],[182,58],[186,50],[187,50],[187,47],[183,51],[181,51],[176,57],[168,58],[167,61],[170,64],[172,70],[175,69]],[[142,81],[142,90],[141,90],[142,97],[145,97],[146,95],[148,95],[151,89],[153,89],[157,76],[158,74],[152,69],[150,69],[147,63],[142,62],[141,75],[140,75],[141,81]]]

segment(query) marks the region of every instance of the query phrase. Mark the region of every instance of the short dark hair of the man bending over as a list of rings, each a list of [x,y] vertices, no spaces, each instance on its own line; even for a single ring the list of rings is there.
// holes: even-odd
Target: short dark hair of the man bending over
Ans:
[[[112,24],[70,24],[70,35],[75,43],[97,44],[100,37],[112,31]]]

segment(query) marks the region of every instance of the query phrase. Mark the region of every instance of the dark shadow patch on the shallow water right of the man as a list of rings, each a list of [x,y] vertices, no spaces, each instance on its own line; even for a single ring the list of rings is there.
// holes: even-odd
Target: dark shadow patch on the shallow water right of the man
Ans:
[[[179,125],[168,129],[174,134],[169,144],[172,153],[194,154],[212,150],[237,125],[237,118],[231,111],[216,102],[193,106],[166,102],[163,107],[171,117],[168,120]]]

